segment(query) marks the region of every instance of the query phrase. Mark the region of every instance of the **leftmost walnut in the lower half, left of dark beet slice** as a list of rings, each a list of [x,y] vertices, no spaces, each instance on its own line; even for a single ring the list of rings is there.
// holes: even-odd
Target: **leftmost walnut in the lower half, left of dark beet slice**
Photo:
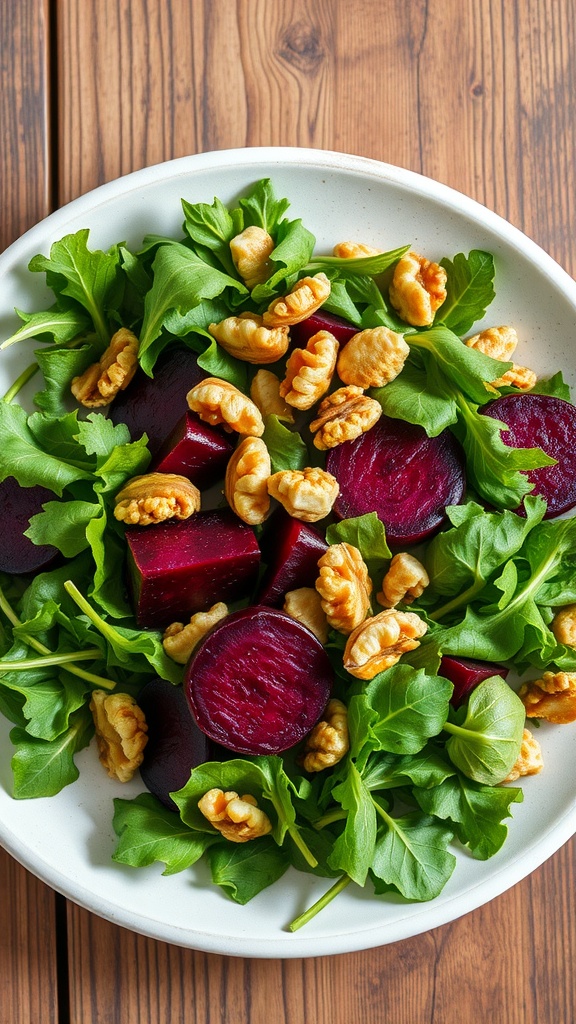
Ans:
[[[141,708],[129,693],[92,690],[90,711],[101,764],[111,778],[129,782],[142,762],[148,742]]]

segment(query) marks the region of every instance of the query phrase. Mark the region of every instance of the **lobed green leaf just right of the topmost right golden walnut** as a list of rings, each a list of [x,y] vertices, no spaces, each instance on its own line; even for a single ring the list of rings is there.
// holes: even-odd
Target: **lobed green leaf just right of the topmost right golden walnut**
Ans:
[[[446,299],[437,318],[461,336],[482,319],[494,298],[494,257],[481,249],[472,249],[467,257],[458,253],[453,260],[441,260],[440,265],[446,270],[448,280]]]

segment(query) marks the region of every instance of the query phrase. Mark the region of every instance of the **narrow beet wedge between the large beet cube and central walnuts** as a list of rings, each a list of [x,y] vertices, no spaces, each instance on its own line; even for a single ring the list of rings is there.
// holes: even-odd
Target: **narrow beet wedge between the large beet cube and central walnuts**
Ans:
[[[281,604],[289,590],[314,587],[318,579],[318,559],[327,547],[316,529],[293,519],[284,509],[278,509],[262,539],[262,557],[268,567],[258,592],[258,603]]]

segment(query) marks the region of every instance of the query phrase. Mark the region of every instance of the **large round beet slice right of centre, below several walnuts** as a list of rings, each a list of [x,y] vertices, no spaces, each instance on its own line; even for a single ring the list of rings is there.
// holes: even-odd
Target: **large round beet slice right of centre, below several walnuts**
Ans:
[[[326,468],[340,494],[341,519],[376,512],[393,545],[415,544],[434,534],[446,506],[464,494],[464,460],[449,430],[428,437],[422,427],[382,416],[354,441],[331,449]]]

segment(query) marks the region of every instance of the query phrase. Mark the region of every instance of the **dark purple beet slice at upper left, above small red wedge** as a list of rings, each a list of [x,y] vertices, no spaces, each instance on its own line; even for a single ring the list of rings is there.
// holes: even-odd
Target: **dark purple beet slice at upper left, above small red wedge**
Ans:
[[[188,392],[207,376],[195,352],[169,345],[158,358],[154,377],[138,370],[126,390],[120,391],[110,407],[110,418],[113,423],[125,423],[132,440],[148,434],[148,446],[156,455],[186,413]]]

